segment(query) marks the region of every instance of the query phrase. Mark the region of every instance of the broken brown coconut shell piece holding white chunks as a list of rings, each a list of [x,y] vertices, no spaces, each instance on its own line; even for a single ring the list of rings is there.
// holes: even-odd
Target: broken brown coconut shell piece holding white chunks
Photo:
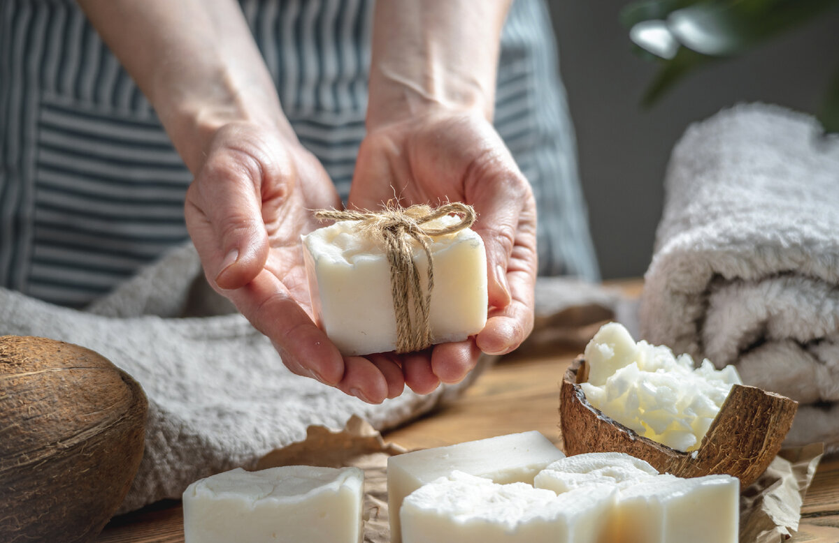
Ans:
[[[626,452],[678,477],[732,475],[740,479],[741,489],[760,477],[778,454],[798,409],[798,402],[785,396],[733,385],[699,448],[682,452],[639,436],[591,406],[579,385],[586,382],[587,370],[585,360],[578,358],[562,380],[560,427],[565,454]]]

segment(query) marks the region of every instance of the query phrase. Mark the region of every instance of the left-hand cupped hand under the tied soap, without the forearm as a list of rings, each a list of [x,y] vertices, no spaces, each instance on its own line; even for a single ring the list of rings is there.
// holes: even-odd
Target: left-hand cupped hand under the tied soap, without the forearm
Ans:
[[[271,339],[289,370],[378,403],[402,393],[399,367],[384,354],[341,357],[312,314],[300,235],[321,226],[313,210],[340,207],[299,142],[239,122],[206,147],[185,217],[207,280]]]

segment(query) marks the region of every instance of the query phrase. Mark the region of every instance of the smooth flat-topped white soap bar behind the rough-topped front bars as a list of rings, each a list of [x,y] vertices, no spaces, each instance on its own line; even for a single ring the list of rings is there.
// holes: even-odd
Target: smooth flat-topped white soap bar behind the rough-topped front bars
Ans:
[[[408,494],[440,477],[461,471],[498,484],[533,484],[536,473],[565,458],[539,432],[406,452],[388,458],[388,515],[393,543],[399,543],[399,508]]]

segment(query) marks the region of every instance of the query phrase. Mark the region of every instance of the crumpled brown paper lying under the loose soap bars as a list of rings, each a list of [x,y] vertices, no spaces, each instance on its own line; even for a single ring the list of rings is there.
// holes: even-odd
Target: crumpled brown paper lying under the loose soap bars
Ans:
[[[389,543],[388,458],[406,452],[385,442],[367,421],[353,416],[347,427],[312,426],[302,442],[269,452],[258,469],[305,464],[364,470],[364,543]],[[740,494],[740,543],[778,543],[798,530],[801,504],[816,474],[821,443],[781,451]]]

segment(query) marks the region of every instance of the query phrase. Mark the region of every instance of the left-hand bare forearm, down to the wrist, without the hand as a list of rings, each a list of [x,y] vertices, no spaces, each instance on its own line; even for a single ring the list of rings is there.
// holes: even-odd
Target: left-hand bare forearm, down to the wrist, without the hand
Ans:
[[[295,141],[232,0],[78,0],[197,173],[216,130],[253,122]]]

